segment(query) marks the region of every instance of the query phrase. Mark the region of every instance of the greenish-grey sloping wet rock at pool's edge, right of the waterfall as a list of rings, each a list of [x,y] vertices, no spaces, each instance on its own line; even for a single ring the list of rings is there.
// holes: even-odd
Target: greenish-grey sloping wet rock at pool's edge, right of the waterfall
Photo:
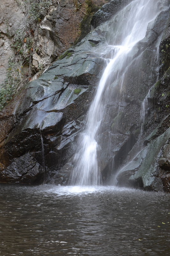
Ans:
[[[155,129],[156,132],[157,129]],[[142,188],[146,190],[159,191],[164,187],[168,187],[168,179],[162,176],[161,169],[169,170],[169,144],[164,148],[164,145],[169,141],[170,129],[168,128],[163,134],[146,146],[132,161],[125,165],[119,172],[117,180],[120,185],[134,184],[137,187],[139,180],[142,181]],[[131,173],[134,172],[132,175]],[[162,178],[162,177],[165,177]],[[167,175],[168,177],[168,175]],[[164,179],[163,186],[161,180]]]

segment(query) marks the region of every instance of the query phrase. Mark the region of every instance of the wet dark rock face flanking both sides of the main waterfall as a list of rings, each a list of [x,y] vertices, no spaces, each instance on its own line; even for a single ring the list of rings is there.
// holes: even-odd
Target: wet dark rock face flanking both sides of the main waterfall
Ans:
[[[125,2],[111,1],[110,7],[104,5],[101,12],[111,8],[118,12]],[[169,1],[160,6],[145,38],[129,52],[126,82],[121,92],[116,89],[116,103],[108,99],[107,111],[111,110],[111,114],[106,116],[107,124],[101,127],[99,138],[103,183],[118,172],[119,185],[170,190],[168,4]],[[107,20],[108,15],[105,17]],[[85,113],[110,57],[100,52],[110,43],[108,35],[114,36],[114,26],[114,19],[110,19],[90,32],[38,79],[28,83],[0,112],[1,182],[67,182],[78,132],[84,128]],[[155,84],[157,76],[159,81]],[[148,110],[142,134],[143,101]],[[143,148],[139,140],[144,141]]]

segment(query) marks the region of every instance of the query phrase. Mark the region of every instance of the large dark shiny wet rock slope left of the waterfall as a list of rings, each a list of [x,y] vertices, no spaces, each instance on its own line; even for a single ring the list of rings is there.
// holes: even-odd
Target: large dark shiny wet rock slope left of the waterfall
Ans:
[[[34,184],[43,177],[48,179],[49,170],[58,169],[73,154],[73,142],[89,106],[90,92],[104,65],[104,60],[93,53],[92,39],[99,45],[104,41],[96,32],[90,34],[39,79],[28,83],[1,112],[1,131],[6,127],[0,138],[2,182]],[[25,164],[20,173],[20,161],[26,157],[31,164]],[[45,175],[43,159],[48,171]],[[32,162],[35,173],[30,172]],[[18,172],[14,170],[15,175],[11,175],[14,167]]]

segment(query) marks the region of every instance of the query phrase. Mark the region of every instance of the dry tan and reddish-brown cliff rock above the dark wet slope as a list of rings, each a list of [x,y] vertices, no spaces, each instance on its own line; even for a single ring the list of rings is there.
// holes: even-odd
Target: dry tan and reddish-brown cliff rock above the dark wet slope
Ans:
[[[39,4],[36,0],[12,3],[11,0],[1,0],[0,84],[8,72],[10,58],[16,68],[24,66],[22,72],[26,78],[51,64],[79,38],[85,17],[91,17],[104,3],[104,0],[82,0],[81,3],[44,0]],[[29,74],[30,68],[32,72]]]

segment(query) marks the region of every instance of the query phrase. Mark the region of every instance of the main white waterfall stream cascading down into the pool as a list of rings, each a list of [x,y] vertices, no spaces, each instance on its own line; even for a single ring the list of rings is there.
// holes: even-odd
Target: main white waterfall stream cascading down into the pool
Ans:
[[[157,0],[135,0],[115,15],[116,31],[112,31],[109,44],[113,45],[113,58],[100,79],[96,94],[86,116],[85,130],[78,138],[78,149],[74,156],[71,184],[100,185],[99,133],[105,116],[108,99],[115,98],[115,89],[122,90],[124,70],[130,65],[132,48],[144,38],[148,23],[155,18]],[[108,47],[110,50],[110,47]]]

